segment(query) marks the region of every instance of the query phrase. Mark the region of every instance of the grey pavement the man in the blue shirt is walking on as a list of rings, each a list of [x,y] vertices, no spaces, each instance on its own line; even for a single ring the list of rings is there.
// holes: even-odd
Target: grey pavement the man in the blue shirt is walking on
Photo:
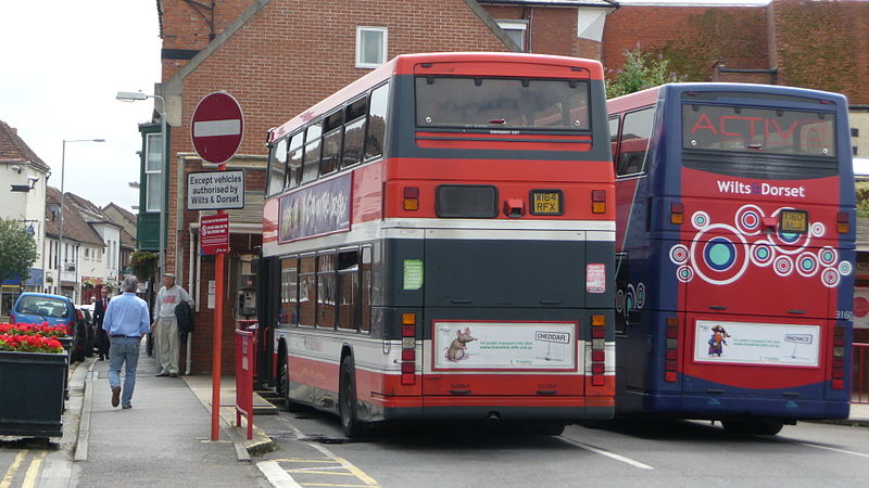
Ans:
[[[108,371],[109,361],[96,356],[74,364],[63,437],[46,459],[40,488],[272,486],[251,455],[276,445],[256,425],[247,439],[244,419],[236,425],[234,377],[222,381],[219,440],[212,441],[211,376],[154,377],[154,358],[142,348],[133,408],[121,409],[111,406]],[[256,394],[254,409],[274,413]],[[869,403],[853,403],[847,420],[824,422],[869,426]]]

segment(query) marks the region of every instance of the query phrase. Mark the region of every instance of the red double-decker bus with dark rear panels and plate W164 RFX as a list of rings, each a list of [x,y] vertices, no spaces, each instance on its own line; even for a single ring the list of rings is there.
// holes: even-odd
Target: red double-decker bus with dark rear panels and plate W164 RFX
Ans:
[[[260,329],[288,406],[561,433],[614,412],[600,63],[402,55],[269,131]]]

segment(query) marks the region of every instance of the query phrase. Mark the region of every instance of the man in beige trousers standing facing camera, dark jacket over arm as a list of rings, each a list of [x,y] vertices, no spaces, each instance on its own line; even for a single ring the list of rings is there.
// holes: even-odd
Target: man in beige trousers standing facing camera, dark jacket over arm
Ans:
[[[181,301],[193,307],[193,299],[187,291],[175,284],[175,274],[163,274],[163,287],[156,294],[154,323],[151,324],[151,330],[156,331],[156,345],[160,348],[160,373],[155,376],[178,376],[180,338],[175,307]]]

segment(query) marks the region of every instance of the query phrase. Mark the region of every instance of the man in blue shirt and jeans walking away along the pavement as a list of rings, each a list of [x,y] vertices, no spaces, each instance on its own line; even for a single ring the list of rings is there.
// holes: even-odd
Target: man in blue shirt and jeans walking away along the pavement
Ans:
[[[123,295],[109,303],[102,329],[112,343],[109,349],[109,386],[112,387],[112,407],[122,403],[128,409],[133,404],[133,389],[136,387],[136,367],[139,364],[139,343],[151,326],[148,304],[136,296],[139,280],[127,277],[121,284]],[[126,362],[124,376],[124,397],[121,398],[121,364]]]

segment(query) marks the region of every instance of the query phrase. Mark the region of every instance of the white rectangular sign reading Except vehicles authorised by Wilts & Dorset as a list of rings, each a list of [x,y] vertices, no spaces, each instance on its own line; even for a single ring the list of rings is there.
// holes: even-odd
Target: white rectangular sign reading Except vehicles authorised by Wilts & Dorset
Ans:
[[[187,175],[188,210],[244,208],[244,171],[196,171]]]

